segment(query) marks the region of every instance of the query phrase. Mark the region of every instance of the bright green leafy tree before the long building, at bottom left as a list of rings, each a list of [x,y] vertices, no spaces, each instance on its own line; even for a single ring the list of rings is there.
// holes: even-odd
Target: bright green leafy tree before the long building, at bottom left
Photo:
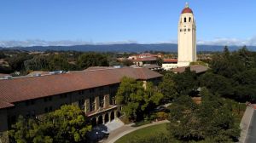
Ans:
[[[20,143],[86,142],[91,126],[78,106],[61,106],[40,119],[19,117],[10,137]]]

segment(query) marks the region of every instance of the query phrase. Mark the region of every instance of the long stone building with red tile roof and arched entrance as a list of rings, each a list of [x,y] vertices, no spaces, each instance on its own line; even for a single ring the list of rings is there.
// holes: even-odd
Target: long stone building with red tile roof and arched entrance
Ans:
[[[115,94],[122,77],[158,83],[162,75],[147,68],[123,67],[1,79],[0,139],[8,140],[6,131],[19,115],[40,117],[62,105],[79,106],[93,124],[112,121],[120,116]]]

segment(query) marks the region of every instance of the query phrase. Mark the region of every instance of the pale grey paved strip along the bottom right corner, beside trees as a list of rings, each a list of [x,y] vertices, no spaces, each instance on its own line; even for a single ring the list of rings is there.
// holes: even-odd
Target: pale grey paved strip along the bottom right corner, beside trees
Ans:
[[[239,138],[240,143],[245,143],[247,132],[253,117],[253,106],[247,106],[246,112],[244,112],[243,117],[241,118],[240,128],[241,128],[241,135]]]

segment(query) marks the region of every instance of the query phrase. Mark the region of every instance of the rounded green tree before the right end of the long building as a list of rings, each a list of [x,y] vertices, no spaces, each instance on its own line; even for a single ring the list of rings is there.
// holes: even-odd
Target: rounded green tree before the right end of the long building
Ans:
[[[136,81],[123,77],[116,94],[116,100],[122,105],[122,112],[131,120],[141,120],[152,108],[160,104],[163,95],[154,89],[153,83]]]

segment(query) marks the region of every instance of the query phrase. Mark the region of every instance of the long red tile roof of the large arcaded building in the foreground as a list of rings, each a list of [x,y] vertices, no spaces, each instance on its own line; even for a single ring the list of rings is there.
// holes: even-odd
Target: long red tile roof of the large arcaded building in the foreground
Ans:
[[[41,77],[18,77],[0,80],[0,100],[11,104],[22,100],[90,89],[119,83],[124,76],[137,80],[146,80],[161,77],[162,75],[146,68],[124,67],[69,72]],[[7,106],[3,103],[1,105],[0,109]]]

